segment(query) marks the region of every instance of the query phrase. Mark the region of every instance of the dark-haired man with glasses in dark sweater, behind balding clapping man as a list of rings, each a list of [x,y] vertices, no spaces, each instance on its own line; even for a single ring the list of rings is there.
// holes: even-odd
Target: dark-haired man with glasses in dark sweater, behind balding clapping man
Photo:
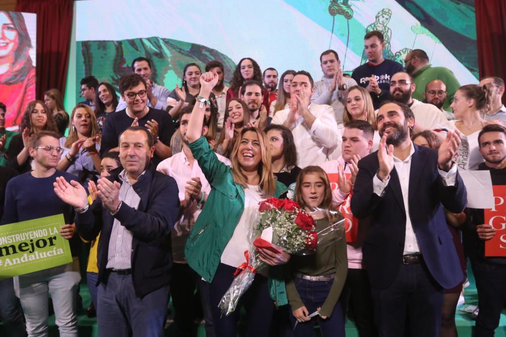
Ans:
[[[119,93],[126,103],[126,108],[107,118],[102,130],[101,155],[110,150],[119,151],[117,148],[119,134],[129,126],[139,125],[147,128],[155,139],[153,164],[158,165],[172,155],[168,145],[175,129],[170,115],[147,105],[146,81],[138,74],[121,76]]]

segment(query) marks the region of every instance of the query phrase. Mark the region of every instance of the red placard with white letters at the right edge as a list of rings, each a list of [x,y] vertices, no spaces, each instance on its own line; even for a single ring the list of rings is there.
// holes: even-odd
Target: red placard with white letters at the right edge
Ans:
[[[494,208],[484,210],[484,223],[495,228],[495,235],[485,241],[485,256],[506,256],[506,185],[492,188]]]

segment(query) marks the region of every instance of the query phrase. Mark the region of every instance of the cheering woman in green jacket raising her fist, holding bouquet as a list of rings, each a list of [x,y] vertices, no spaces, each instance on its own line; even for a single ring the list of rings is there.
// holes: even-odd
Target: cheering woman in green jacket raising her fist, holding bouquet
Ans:
[[[247,315],[247,333],[268,335],[274,310],[287,304],[283,266],[289,255],[259,251],[260,259],[273,267],[260,270],[232,314],[221,314],[218,304],[234,278],[233,273],[245,262],[244,251],[250,242],[246,230],[255,221],[259,202],[279,196],[286,187],[274,179],[271,154],[265,133],[244,128],[232,150],[232,167],[221,163],[201,137],[205,105],[218,82],[216,73],[200,77],[200,97],[193,109],[186,139],[193,156],[211,185],[205,207],[186,243],[188,264],[207,282],[209,304],[217,336],[237,336],[240,308]],[[201,103],[202,102],[202,103]]]

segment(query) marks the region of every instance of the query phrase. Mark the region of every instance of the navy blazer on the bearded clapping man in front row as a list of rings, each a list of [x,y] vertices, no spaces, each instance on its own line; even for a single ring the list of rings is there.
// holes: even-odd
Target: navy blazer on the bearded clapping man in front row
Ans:
[[[409,217],[421,254],[434,279],[452,288],[463,279],[443,206],[460,213],[467,203],[467,192],[457,172],[454,186],[446,186],[439,175],[436,150],[414,145],[409,173]],[[370,222],[362,247],[363,261],[371,285],[386,288],[394,281],[402,264],[406,231],[406,211],[399,176],[395,168],[382,197],[373,191],[372,179],[379,168],[377,151],[363,158],[351,210],[360,222]]]

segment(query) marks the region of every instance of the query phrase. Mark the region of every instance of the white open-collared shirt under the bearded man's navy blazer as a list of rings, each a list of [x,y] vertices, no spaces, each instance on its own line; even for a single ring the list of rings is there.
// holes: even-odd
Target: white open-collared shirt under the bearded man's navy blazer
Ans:
[[[409,216],[409,173],[411,171],[411,158],[414,153],[414,146],[411,143],[411,150],[409,152],[409,156],[400,160],[399,158],[394,156],[394,169],[399,176],[399,183],[401,185],[402,192],[402,200],[404,202],[404,210],[406,211],[406,236],[404,240],[404,252],[403,255],[408,254],[418,254],[420,253],[420,246],[418,245],[418,240],[416,238],[416,234],[413,229],[413,224],[411,223],[411,218]],[[448,171],[439,170],[439,175],[443,178],[443,182],[446,186],[453,186],[455,184],[455,178],[457,174],[457,166],[453,165],[452,168]],[[385,187],[387,187],[388,182],[390,181],[390,175],[384,181],[379,180],[377,174],[372,178],[372,186],[374,193],[378,196],[382,196],[385,191]]]

